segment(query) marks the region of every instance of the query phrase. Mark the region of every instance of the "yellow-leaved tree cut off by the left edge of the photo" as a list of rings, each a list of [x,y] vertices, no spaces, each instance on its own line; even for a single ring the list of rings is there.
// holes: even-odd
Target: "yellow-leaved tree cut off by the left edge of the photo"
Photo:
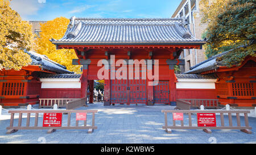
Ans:
[[[0,0],[0,70],[29,65],[31,58],[23,51],[30,51],[33,37],[31,25],[11,9],[10,1]]]

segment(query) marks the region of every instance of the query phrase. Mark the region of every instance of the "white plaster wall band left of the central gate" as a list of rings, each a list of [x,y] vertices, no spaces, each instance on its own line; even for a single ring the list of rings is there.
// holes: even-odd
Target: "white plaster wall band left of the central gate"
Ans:
[[[41,88],[81,88],[79,78],[40,78]]]

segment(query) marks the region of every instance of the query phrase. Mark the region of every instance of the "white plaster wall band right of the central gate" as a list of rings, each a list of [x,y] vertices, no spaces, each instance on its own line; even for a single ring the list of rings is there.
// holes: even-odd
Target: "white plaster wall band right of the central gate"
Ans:
[[[216,79],[177,79],[176,89],[215,89]]]

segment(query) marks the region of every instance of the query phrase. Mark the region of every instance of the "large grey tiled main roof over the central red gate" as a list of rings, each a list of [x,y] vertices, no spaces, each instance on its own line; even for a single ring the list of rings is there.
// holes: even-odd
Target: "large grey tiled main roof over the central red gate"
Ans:
[[[196,44],[183,18],[71,18],[65,35],[53,44]]]

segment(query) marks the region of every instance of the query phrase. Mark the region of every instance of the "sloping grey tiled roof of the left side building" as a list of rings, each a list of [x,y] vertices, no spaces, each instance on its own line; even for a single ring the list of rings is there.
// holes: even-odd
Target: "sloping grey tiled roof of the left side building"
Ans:
[[[24,51],[31,57],[31,65],[40,65],[41,68],[51,70],[56,73],[73,73],[69,72],[63,65],[57,64],[57,62],[50,60],[47,56],[40,55],[32,51]]]

